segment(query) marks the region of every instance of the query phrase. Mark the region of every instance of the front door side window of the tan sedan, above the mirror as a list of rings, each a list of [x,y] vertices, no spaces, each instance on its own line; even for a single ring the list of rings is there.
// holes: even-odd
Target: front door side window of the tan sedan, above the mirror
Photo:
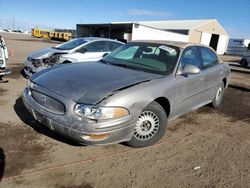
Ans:
[[[191,47],[184,51],[181,58],[181,68],[183,68],[186,64],[202,68],[199,51],[196,47]]]

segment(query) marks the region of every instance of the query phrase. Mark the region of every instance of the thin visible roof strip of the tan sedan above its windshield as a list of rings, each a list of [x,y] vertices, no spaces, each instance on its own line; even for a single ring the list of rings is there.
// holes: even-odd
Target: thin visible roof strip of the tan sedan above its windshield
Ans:
[[[209,46],[202,45],[202,44],[179,42],[179,41],[167,41],[167,40],[134,40],[131,42],[156,43],[156,44],[163,44],[163,45],[172,45],[172,46],[176,46],[179,48],[187,48],[189,46],[203,46],[203,47],[210,48]]]

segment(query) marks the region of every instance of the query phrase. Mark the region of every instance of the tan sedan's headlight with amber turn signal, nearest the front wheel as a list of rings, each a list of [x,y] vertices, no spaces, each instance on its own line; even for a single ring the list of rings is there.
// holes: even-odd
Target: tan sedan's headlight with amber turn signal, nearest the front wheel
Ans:
[[[89,119],[116,119],[129,115],[125,108],[98,107],[92,105],[76,104],[74,111],[79,116]]]

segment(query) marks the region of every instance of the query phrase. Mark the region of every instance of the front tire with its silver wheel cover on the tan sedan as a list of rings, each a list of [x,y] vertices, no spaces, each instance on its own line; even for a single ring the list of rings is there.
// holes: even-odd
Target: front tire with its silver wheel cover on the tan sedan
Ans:
[[[167,115],[162,106],[150,103],[138,116],[133,137],[126,144],[135,148],[155,144],[163,137],[166,123]]]

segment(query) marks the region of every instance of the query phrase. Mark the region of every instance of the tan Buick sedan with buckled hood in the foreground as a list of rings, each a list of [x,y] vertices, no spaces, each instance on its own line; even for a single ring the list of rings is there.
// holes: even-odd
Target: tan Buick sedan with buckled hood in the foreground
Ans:
[[[229,76],[210,47],[134,41],[98,62],[33,75],[22,98],[36,120],[81,144],[144,147],[161,139],[168,121],[219,106]]]

